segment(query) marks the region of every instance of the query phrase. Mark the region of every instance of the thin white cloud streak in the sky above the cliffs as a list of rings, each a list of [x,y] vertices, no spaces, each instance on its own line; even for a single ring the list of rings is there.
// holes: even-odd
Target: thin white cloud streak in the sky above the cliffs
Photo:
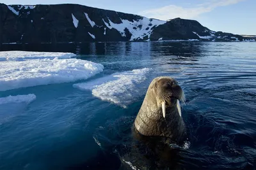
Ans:
[[[210,12],[219,6],[228,6],[246,0],[207,0],[203,4],[197,4],[193,8],[183,8],[182,6],[168,5],[162,8],[141,11],[139,14],[148,18],[157,18],[160,20],[168,20],[171,18],[187,18],[193,19],[203,13]]]

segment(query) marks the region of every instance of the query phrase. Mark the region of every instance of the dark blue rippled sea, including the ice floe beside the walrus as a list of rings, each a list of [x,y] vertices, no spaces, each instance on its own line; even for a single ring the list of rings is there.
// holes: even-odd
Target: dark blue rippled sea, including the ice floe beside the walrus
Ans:
[[[186,95],[187,139],[183,146],[170,145],[170,169],[256,168],[256,43],[70,43],[0,50],[72,52],[104,66],[87,80],[0,92],[36,96],[29,103],[0,104],[1,170],[168,169],[145,156],[147,146],[134,151],[131,128],[156,76],[172,76]]]

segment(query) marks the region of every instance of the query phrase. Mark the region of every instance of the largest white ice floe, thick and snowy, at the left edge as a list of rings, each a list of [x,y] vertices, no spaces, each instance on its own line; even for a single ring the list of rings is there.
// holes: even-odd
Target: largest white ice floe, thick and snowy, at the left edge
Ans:
[[[0,91],[85,80],[103,71],[102,64],[79,59],[34,59],[0,62]]]

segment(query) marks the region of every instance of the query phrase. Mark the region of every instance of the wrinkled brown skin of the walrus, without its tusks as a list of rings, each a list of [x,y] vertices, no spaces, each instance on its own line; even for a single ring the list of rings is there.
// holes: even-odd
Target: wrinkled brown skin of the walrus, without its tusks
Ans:
[[[166,99],[166,116],[163,117],[160,97],[162,90],[172,92]],[[177,110],[177,99],[183,92],[177,81],[170,77],[157,77],[149,85],[147,94],[134,122],[134,127],[143,136],[163,136],[179,143],[186,135],[186,127]]]

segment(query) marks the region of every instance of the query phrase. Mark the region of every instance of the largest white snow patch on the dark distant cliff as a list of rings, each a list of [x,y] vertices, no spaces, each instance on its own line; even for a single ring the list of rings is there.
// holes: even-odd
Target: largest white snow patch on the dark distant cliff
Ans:
[[[132,34],[130,41],[143,39],[145,37],[149,39],[153,31],[152,27],[157,27],[158,25],[166,23],[166,21],[163,20],[149,19],[146,17],[142,17],[140,20],[133,20],[132,22],[121,18],[122,23],[120,24],[113,23],[111,20],[109,20],[109,18],[109,24],[105,22],[103,18],[102,20],[106,27],[109,29],[116,29],[122,36],[125,36],[125,28],[128,29]]]

